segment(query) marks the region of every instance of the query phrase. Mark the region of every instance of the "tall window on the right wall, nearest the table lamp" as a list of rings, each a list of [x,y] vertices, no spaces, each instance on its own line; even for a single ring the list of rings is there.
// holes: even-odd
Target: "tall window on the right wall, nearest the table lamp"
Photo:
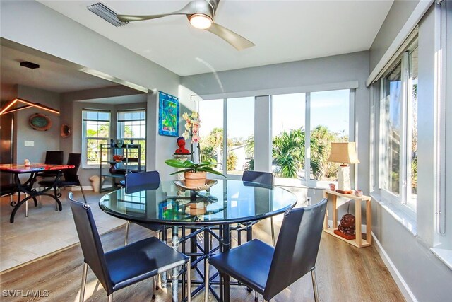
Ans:
[[[416,211],[417,42],[383,76],[379,90],[381,195]]]

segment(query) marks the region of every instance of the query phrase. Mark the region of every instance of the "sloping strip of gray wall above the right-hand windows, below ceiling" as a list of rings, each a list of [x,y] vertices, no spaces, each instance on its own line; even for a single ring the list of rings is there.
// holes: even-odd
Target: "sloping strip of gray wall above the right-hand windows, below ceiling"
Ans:
[[[405,22],[414,11],[419,0],[396,0],[393,2],[391,9],[386,16],[386,19],[381,25],[379,33],[376,34],[374,42],[370,47],[370,71],[374,70],[376,64],[380,61],[383,54],[388,50],[389,45],[400,32],[400,29],[405,25]]]

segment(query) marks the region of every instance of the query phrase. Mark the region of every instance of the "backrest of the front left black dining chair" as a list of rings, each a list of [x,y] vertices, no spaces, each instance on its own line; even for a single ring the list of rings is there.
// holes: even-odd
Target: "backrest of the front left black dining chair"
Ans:
[[[73,221],[76,223],[78,239],[80,240],[83,257],[85,257],[85,263],[93,270],[107,294],[110,294],[113,291],[112,281],[109,277],[104,249],[102,248],[99,233],[97,233],[91,207],[89,204],[83,204],[73,199],[72,192],[69,192],[69,199],[71,199]]]

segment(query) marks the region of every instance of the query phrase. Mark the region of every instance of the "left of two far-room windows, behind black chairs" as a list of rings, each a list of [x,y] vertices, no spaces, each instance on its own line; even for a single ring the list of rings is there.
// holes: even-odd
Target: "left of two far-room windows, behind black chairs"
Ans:
[[[83,110],[83,163],[85,166],[99,167],[100,144],[109,143],[110,112]],[[107,154],[103,154],[107,156]]]

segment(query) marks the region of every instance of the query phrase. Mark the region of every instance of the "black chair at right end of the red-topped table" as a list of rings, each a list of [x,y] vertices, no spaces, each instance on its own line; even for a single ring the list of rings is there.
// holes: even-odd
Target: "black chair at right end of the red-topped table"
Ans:
[[[78,178],[78,168],[80,168],[81,160],[81,153],[69,153],[67,165],[74,165],[75,168],[63,170],[64,179],[59,180],[56,184],[54,184],[54,180],[41,180],[38,184],[44,187],[51,187],[53,185],[55,197],[61,197],[61,193],[59,192],[61,187],[78,186],[82,191],[83,200],[86,203],[85,192]]]

